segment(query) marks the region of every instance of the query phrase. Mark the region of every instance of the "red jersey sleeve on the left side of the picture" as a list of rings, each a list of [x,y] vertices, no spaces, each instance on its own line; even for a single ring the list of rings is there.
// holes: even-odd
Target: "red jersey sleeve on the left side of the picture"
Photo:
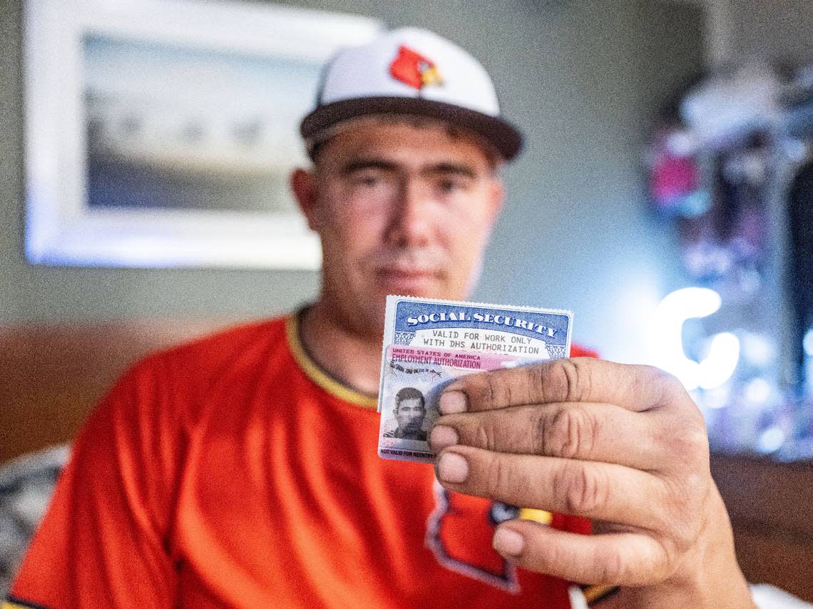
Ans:
[[[172,504],[184,450],[158,357],[89,416],[11,586],[11,607],[172,607]]]

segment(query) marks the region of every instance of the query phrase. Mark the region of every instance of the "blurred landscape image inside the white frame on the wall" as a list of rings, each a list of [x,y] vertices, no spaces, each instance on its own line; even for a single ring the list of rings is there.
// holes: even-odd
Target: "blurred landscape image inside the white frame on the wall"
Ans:
[[[297,213],[288,173],[305,162],[298,97],[318,66],[98,36],[82,53],[91,210]]]

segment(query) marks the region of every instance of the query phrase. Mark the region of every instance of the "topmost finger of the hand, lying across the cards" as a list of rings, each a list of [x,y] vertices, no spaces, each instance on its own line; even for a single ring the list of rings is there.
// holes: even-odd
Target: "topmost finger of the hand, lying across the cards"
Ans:
[[[553,402],[604,402],[637,412],[693,406],[683,385],[659,368],[572,358],[462,376],[446,387],[439,407],[448,415]]]

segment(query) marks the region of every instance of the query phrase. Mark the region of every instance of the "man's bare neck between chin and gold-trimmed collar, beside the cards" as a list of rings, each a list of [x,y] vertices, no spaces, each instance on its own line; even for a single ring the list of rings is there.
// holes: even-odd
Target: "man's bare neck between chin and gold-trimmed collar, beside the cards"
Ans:
[[[354,333],[320,301],[302,315],[300,338],[308,355],[337,381],[363,394],[378,393],[380,337]]]

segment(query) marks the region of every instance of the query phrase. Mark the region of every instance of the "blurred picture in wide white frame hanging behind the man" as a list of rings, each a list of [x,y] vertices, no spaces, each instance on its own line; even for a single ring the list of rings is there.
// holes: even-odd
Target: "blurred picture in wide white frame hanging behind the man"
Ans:
[[[318,268],[289,194],[322,64],[379,21],[269,4],[26,0],[32,263]]]

